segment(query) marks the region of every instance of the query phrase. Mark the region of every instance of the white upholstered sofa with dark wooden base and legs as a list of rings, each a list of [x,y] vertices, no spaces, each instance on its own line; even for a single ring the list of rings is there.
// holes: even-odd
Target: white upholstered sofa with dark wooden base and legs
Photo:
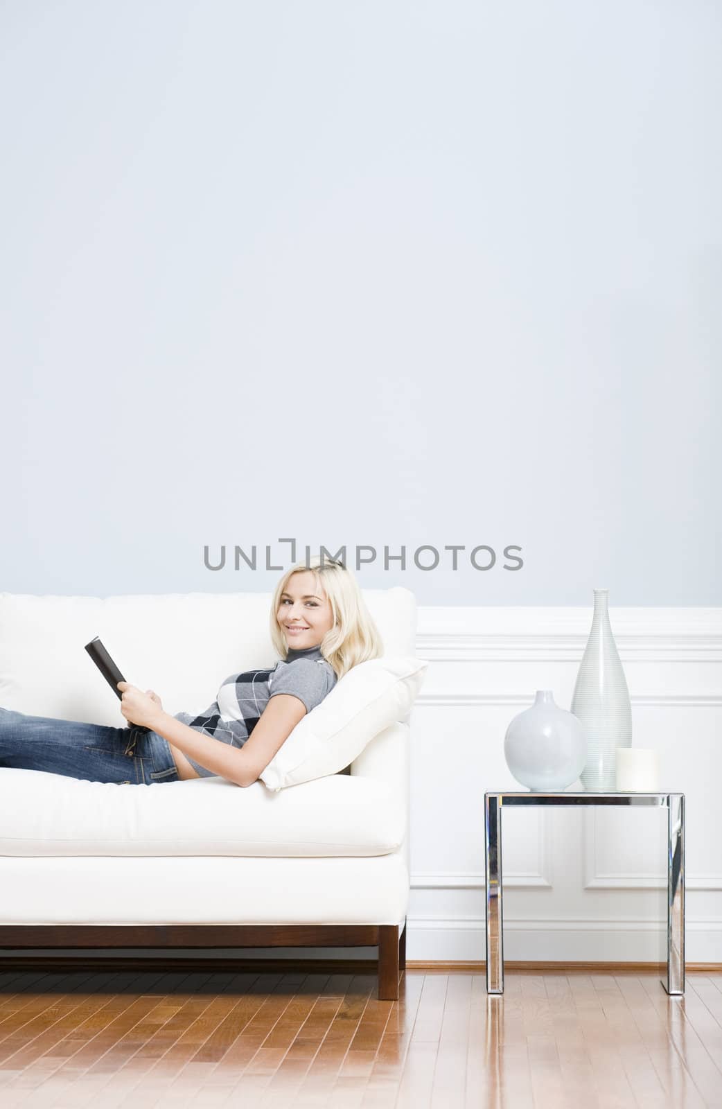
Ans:
[[[406,589],[365,590],[387,654],[414,653]],[[123,726],[83,650],[100,635],[166,711],[273,664],[267,593],[0,593],[0,705]],[[398,997],[409,894],[409,718],[346,773],[272,792],[221,779],[106,785],[0,767],[0,948],[378,947]]]

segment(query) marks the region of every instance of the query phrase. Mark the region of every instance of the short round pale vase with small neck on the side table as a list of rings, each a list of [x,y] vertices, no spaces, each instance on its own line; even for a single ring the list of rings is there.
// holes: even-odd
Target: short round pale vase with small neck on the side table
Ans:
[[[584,732],[551,690],[537,690],[533,704],[515,716],[504,741],[507,766],[532,793],[566,790],[587,761]]]

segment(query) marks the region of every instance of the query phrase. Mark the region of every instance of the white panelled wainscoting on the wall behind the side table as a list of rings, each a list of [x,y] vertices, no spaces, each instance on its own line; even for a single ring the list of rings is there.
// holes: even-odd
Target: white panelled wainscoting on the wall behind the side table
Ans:
[[[722,962],[722,610],[614,609],[632,742],[687,795],[687,957]],[[482,959],[484,792],[520,788],[509,720],[571,703],[588,609],[419,608],[430,662],[411,720],[409,959]],[[716,783],[716,785],[715,785]],[[665,811],[506,811],[505,956],[664,957]]]

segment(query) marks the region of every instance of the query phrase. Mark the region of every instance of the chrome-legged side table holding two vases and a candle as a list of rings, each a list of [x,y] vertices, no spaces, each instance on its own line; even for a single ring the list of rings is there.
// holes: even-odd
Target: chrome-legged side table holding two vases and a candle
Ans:
[[[501,810],[508,805],[631,805],[667,808],[668,994],[684,994],[684,794],[683,793],[485,793],[487,993],[504,994],[501,909]]]

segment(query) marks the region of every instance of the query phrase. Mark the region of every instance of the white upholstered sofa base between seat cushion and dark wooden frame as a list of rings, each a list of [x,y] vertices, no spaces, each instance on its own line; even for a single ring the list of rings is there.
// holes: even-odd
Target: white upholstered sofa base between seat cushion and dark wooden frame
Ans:
[[[399,854],[302,859],[0,857],[0,924],[23,925],[403,924],[409,902],[408,871]],[[128,947],[113,954],[139,958],[136,947],[129,936]],[[238,958],[243,950],[220,948],[214,954]],[[197,956],[193,949],[181,954]],[[309,958],[331,954],[328,948],[307,949]],[[353,954],[359,958],[362,953],[356,948]],[[373,948],[367,954],[373,955]],[[251,949],[247,955],[298,958],[288,947]],[[7,1081],[7,1070],[0,1074]],[[12,1105],[7,1093],[2,1103]],[[102,1109],[108,1101],[99,1097],[92,1103]],[[248,1109],[256,1102],[238,1099],[227,1105]]]

